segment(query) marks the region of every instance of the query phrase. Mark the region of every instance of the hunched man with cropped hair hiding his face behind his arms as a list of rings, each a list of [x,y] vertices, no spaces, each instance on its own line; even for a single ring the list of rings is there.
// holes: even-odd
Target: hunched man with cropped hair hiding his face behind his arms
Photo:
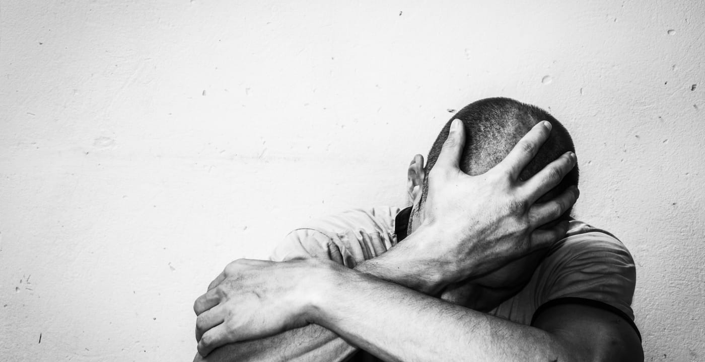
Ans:
[[[455,118],[426,168],[419,155],[410,165],[411,210],[326,218],[278,246],[273,259],[284,263],[229,264],[194,306],[200,354],[643,360],[629,252],[568,221],[577,199],[568,132],[511,99],[477,101]]]

